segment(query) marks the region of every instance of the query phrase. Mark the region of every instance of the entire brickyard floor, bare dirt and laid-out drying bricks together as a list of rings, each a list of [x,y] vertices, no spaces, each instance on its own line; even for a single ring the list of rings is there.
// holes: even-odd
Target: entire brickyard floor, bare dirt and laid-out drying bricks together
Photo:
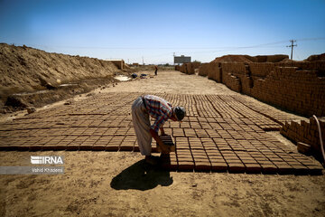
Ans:
[[[187,109],[181,123],[164,126],[176,151],[162,168],[144,165],[137,146],[130,112],[143,94]],[[322,166],[280,134],[293,120],[308,118],[179,71],[2,118],[1,165],[28,165],[31,155],[64,156],[65,173],[2,175],[0,213],[323,216]],[[153,155],[159,155],[154,144]]]

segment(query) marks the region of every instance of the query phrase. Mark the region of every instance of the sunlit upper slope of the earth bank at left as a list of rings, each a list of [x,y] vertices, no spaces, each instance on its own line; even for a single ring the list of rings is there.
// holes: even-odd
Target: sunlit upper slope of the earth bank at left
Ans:
[[[0,43],[0,96],[110,77],[116,71],[111,61]]]

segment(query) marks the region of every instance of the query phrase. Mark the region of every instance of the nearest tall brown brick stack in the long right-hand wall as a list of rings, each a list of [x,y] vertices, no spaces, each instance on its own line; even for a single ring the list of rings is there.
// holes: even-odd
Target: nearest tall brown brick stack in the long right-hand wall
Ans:
[[[305,117],[325,116],[325,78],[317,71],[275,67],[265,80],[254,82],[251,95]]]

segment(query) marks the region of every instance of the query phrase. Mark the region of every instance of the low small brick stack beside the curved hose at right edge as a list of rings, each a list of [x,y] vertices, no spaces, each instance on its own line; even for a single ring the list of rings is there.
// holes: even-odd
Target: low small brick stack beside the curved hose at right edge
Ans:
[[[325,144],[325,118],[319,118],[319,121],[322,142]],[[290,124],[285,122],[280,133],[296,143],[302,142],[310,145],[311,152],[315,156],[320,155],[320,134],[314,118],[310,118],[309,121],[302,120],[300,123],[297,121],[292,121]]]

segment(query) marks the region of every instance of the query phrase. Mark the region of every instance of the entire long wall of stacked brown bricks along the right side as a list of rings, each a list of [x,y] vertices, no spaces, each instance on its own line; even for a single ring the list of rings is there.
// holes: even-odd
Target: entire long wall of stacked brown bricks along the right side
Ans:
[[[304,117],[325,116],[325,61],[312,62],[199,62],[176,70],[226,84],[229,89]]]

